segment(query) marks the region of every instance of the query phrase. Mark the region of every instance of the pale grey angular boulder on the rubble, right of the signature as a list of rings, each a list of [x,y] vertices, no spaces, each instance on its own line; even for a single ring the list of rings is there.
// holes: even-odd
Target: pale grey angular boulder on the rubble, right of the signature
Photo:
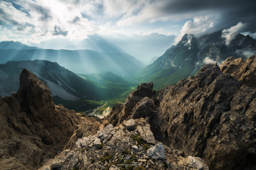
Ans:
[[[147,150],[147,154],[155,160],[165,158],[164,145],[162,143],[156,144],[154,147]]]

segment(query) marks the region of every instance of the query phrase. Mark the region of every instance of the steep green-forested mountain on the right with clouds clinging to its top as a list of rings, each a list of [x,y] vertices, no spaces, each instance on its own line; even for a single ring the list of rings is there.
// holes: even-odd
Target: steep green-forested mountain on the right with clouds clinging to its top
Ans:
[[[156,89],[175,84],[182,78],[195,75],[206,63],[221,64],[226,58],[247,58],[256,53],[256,40],[249,35],[238,34],[226,44],[221,32],[202,37],[185,34],[152,64],[135,74],[139,82],[153,81]]]

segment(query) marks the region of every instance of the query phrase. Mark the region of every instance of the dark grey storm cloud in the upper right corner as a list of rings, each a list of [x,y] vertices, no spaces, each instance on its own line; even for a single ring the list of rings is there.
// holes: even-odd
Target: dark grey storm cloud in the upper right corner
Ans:
[[[168,15],[190,13],[219,15],[217,25],[219,30],[242,22],[248,23],[245,31],[256,32],[256,0],[174,0],[166,1],[159,10]]]

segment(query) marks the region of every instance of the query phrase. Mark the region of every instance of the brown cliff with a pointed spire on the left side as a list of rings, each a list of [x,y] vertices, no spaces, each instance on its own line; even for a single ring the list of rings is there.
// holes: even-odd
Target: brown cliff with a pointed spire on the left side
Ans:
[[[17,93],[0,96],[0,110],[1,169],[36,169],[65,147],[79,125],[88,123],[55,106],[48,86],[26,69]]]

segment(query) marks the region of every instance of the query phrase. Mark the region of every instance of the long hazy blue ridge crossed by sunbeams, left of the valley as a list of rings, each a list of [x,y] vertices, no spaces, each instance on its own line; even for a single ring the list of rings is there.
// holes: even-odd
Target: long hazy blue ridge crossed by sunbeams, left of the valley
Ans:
[[[12,44],[9,45],[12,47],[6,49],[9,47],[1,45],[2,43]],[[17,50],[20,46],[24,46],[24,44],[20,45],[19,42],[1,42],[0,46],[4,46],[4,49],[0,48],[0,63],[41,59],[57,62],[77,74],[112,71],[119,75],[126,74],[129,76],[144,66],[139,60],[121,52],[108,53],[93,50],[35,49],[34,47],[29,49],[31,48],[29,46],[24,47],[28,49]]]

